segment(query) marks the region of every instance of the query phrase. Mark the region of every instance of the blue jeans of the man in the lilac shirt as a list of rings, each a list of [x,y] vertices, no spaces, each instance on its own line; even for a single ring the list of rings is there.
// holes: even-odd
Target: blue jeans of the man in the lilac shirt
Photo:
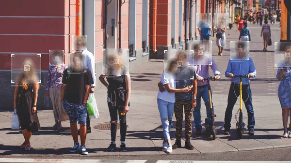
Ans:
[[[210,88],[210,94],[212,99],[212,92]],[[196,94],[196,107],[194,107],[193,111],[193,117],[194,117],[194,123],[195,123],[195,129],[202,129],[201,126],[201,97],[204,101],[204,104],[206,106],[206,114],[208,118],[208,122],[211,122],[211,119],[209,118],[210,115],[210,105],[209,105],[209,95],[208,95],[208,87],[199,88],[197,87],[197,94]],[[212,103],[212,109],[213,109],[213,103]]]

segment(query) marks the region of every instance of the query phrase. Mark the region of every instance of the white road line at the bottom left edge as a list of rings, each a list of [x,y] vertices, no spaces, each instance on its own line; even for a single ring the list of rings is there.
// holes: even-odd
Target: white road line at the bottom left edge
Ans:
[[[146,160],[80,160],[80,159],[12,159],[12,158],[1,158],[0,163],[146,163]]]

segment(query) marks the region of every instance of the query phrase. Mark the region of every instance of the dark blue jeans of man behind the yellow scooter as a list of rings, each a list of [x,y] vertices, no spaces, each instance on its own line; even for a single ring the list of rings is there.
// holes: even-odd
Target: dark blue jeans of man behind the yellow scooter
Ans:
[[[233,87],[234,87],[234,90],[233,90]],[[248,94],[249,94],[249,97],[248,97]],[[226,107],[225,125],[224,125],[224,128],[228,130],[231,127],[230,121],[232,117],[233,106],[238,100],[237,96],[239,95],[240,95],[240,85],[234,84],[232,82],[230,84],[228,98],[227,98],[227,107]],[[244,102],[244,105],[247,111],[247,118],[248,118],[247,128],[250,130],[255,127],[255,115],[254,115],[254,108],[252,104],[252,91],[250,88],[250,84],[242,85],[242,101]]]

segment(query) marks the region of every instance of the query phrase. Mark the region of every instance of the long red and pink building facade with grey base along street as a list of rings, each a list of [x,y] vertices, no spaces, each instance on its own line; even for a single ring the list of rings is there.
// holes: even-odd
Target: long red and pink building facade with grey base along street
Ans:
[[[107,14],[106,2],[110,2]],[[98,77],[102,73],[105,18],[107,48],[128,48],[132,70],[149,59],[163,59],[164,50],[186,49],[188,40],[199,40],[197,13],[212,13],[213,8],[214,13],[229,13],[231,19],[233,7],[231,0],[82,0],[82,35],[87,35],[87,49],[95,56]],[[38,107],[51,109],[45,96],[49,50],[72,52],[75,9],[76,0],[2,0],[0,20],[5,23],[0,26],[0,109],[13,107],[11,54],[41,54]]]

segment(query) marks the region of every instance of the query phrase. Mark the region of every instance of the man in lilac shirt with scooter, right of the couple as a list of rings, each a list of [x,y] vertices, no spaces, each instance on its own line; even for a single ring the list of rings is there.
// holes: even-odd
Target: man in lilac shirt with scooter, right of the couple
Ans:
[[[201,44],[195,44],[193,47],[191,47],[190,50],[194,50],[194,60],[198,60],[199,58],[202,58],[205,55],[199,55],[198,50],[201,49]],[[207,58],[207,57],[205,57]],[[208,60],[208,59],[206,59]],[[194,65],[195,68],[195,74],[197,78],[197,95],[196,95],[196,106],[194,107],[193,111],[193,117],[194,117],[194,123],[195,123],[195,134],[201,135],[202,125],[201,125],[201,98],[204,101],[204,104],[206,106],[206,112],[207,112],[207,118],[210,122],[210,104],[209,104],[209,95],[208,95],[208,87],[207,87],[207,81],[204,81],[203,78],[210,77],[209,74],[209,67],[212,69],[214,73],[214,78],[216,80],[220,79],[220,72],[218,71],[218,67],[213,59],[211,59],[212,64],[205,64],[206,62],[201,62],[201,64]],[[210,89],[211,92],[211,89]],[[212,96],[212,92],[211,92]],[[213,103],[212,103],[213,106]]]

